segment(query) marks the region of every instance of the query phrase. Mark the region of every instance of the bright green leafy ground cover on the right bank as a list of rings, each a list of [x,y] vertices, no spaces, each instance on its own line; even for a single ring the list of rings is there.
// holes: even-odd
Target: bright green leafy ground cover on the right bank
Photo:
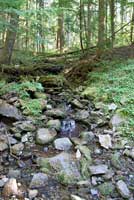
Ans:
[[[115,103],[127,117],[121,130],[134,138],[134,59],[105,61],[99,71],[89,73],[87,86],[96,88],[96,101]]]

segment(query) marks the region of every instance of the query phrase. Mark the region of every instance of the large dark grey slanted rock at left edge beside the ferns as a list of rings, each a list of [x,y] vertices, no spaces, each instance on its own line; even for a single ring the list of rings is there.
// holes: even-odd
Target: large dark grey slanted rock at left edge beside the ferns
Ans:
[[[13,120],[22,119],[22,114],[20,111],[15,106],[10,105],[3,100],[0,100],[0,115]]]

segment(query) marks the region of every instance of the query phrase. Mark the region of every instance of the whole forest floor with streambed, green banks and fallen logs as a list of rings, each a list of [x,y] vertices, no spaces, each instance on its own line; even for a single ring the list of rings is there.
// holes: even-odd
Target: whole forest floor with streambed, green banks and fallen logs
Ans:
[[[133,200],[134,60],[63,59],[3,66],[0,200]]]

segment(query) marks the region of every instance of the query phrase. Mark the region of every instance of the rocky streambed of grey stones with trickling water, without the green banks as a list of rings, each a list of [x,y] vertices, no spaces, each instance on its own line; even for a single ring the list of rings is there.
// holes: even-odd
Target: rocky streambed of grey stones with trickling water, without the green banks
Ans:
[[[117,129],[117,106],[45,95],[39,116],[19,110],[17,95],[1,97],[0,199],[133,200],[133,142]]]

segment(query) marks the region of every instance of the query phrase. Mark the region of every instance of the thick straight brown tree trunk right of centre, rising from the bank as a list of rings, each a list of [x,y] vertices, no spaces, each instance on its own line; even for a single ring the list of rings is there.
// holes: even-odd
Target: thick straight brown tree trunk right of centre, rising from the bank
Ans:
[[[99,0],[98,57],[105,48],[105,0]]]

